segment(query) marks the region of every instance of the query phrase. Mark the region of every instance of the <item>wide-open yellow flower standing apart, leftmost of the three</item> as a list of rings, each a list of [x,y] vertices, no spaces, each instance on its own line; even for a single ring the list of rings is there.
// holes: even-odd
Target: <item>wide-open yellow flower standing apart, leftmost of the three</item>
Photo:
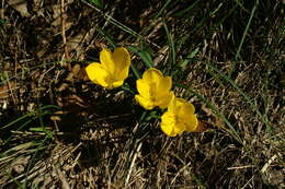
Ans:
[[[118,47],[113,52],[103,49],[100,52],[101,63],[90,63],[87,68],[88,78],[95,84],[107,90],[123,85],[128,76],[130,56],[126,48]]]

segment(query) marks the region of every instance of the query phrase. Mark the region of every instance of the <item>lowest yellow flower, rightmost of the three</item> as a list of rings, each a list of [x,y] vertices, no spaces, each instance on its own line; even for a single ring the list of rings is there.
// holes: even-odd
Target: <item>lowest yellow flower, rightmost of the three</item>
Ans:
[[[198,120],[193,104],[183,98],[173,97],[168,110],[161,116],[161,130],[169,137],[175,137],[183,131],[195,131]]]

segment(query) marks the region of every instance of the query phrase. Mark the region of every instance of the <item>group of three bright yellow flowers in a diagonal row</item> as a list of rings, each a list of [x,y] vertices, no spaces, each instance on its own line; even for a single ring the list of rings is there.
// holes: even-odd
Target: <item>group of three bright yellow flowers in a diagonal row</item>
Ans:
[[[100,52],[100,63],[90,63],[87,68],[89,79],[107,90],[123,85],[128,76],[130,56],[126,48],[118,47],[113,52],[103,49]],[[198,120],[193,104],[174,96],[171,91],[171,76],[156,68],[146,70],[141,79],[136,81],[138,94],[135,99],[145,109],[168,108],[161,116],[161,130],[169,137],[175,137],[183,131],[195,131]]]

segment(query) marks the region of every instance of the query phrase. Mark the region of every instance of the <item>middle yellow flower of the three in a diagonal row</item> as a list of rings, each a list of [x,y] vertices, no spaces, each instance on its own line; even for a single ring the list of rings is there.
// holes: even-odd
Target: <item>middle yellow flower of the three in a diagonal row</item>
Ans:
[[[137,80],[138,95],[136,101],[146,109],[152,109],[156,106],[167,108],[173,92],[170,91],[172,79],[155,68],[150,68],[142,74],[142,79]]]

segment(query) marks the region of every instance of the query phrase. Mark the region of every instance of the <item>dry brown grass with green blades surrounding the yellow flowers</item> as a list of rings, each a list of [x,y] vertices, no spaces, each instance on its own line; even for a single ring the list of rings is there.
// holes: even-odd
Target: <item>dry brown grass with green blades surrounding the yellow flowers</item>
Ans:
[[[1,188],[285,187],[283,2],[12,2],[0,7]],[[113,45],[140,73],[150,56],[172,75],[204,130],[168,138],[132,93],[92,84],[83,68]]]

